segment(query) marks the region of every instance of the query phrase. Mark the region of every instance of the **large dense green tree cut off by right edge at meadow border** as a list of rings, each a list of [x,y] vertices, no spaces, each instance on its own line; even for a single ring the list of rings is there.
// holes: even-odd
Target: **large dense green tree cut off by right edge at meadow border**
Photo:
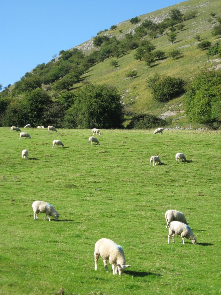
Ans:
[[[221,126],[221,73],[203,72],[195,77],[185,94],[187,114],[193,122],[214,129]]]

